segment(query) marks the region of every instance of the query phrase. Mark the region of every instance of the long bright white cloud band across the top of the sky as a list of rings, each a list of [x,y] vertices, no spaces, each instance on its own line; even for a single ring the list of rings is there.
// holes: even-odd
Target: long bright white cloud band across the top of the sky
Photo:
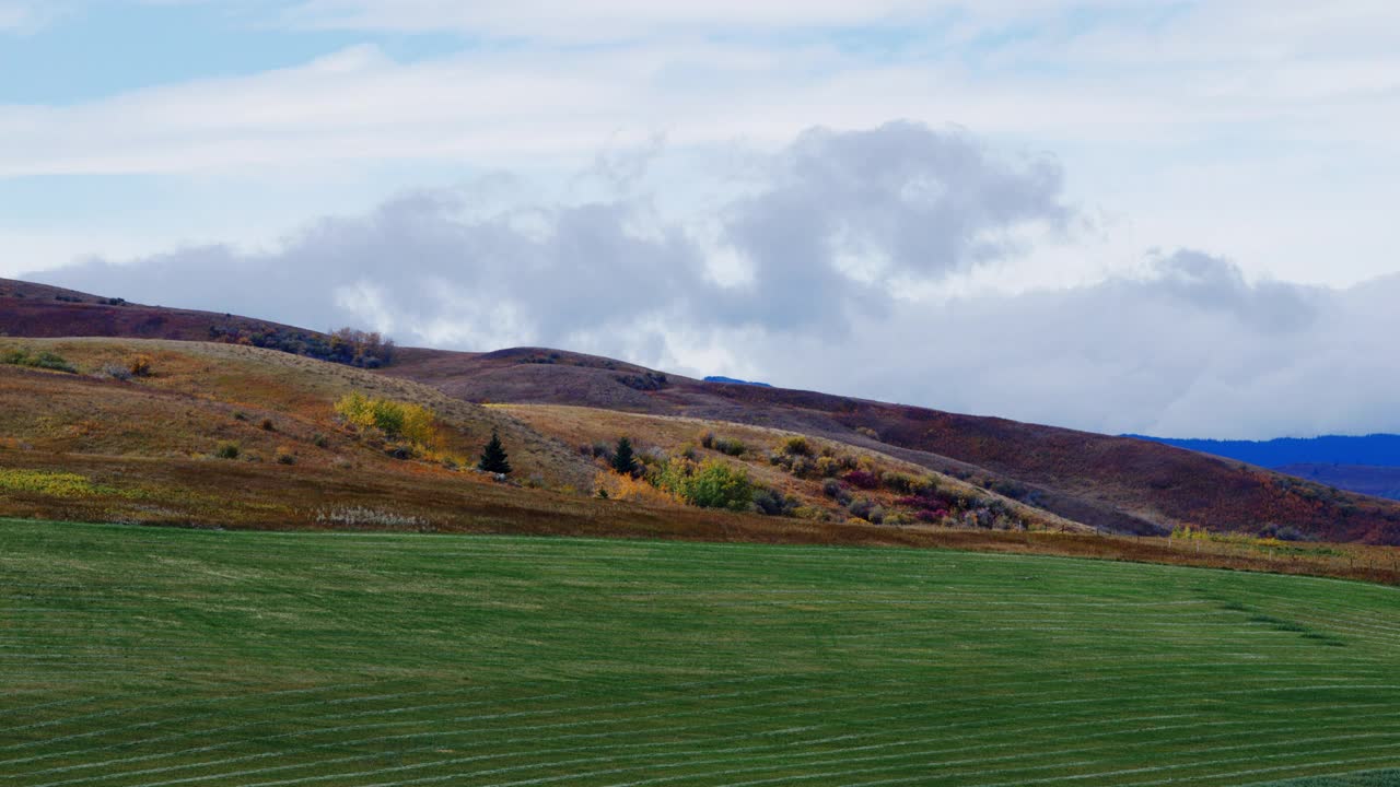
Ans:
[[[42,8],[4,3],[0,18]],[[1296,153],[1299,141],[1393,154],[1386,129],[1400,122],[1400,39],[1390,32],[1400,18],[1369,0],[1326,10],[1295,0],[1263,10],[1070,0],[251,7],[258,25],[332,25],[370,41],[405,29],[472,35],[433,57],[395,60],[365,43],[298,67],[70,106],[0,105],[0,178],[326,161],[577,165],[617,136],[777,144],[818,123],[893,116],[956,118],[1036,144],[1133,140],[1159,153],[1245,137],[1256,143],[1250,157],[1267,158],[1266,143]],[[553,35],[612,38],[580,46]]]

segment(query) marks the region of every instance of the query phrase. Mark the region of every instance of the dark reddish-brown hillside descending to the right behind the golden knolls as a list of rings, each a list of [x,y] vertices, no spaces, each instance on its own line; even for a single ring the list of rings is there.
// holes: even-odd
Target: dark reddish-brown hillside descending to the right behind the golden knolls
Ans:
[[[1141,440],[962,416],[811,391],[701,382],[545,349],[400,353],[388,374],[466,401],[571,403],[728,420],[878,447],[1047,511],[1116,532],[1197,525],[1257,534],[1291,527],[1327,541],[1400,543],[1400,506]],[[860,430],[860,431],[857,431]]]

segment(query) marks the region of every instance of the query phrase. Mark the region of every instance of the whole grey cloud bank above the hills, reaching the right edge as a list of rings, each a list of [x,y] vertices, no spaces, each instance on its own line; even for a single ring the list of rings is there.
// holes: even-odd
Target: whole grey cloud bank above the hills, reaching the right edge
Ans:
[[[601,164],[623,172],[599,176],[626,196],[483,211],[469,189],[426,192],[270,251],[192,248],[41,279],[1096,431],[1400,431],[1385,347],[1400,277],[1345,291],[1253,281],[1183,249],[1088,286],[952,297],[941,284],[1015,259],[1023,238],[1074,234],[1054,160],[917,123],[813,129],[750,160],[708,214],[668,220],[636,193],[655,151],[637,155]]]

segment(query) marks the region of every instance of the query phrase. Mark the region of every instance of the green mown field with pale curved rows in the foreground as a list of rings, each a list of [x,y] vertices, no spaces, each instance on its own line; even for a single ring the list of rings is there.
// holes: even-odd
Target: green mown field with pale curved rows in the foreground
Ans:
[[[0,521],[0,787],[1396,784],[1400,590]]]

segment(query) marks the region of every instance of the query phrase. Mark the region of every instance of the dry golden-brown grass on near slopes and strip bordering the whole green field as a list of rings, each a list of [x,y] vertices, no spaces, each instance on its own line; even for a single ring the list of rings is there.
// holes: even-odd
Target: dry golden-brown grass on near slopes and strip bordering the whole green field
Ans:
[[[0,487],[4,517],[958,548],[1400,581],[1397,550],[1385,548],[1282,549],[1075,532],[897,528],[700,511],[640,493],[634,500],[598,500],[591,493],[599,466],[581,457],[577,444],[630,434],[643,451],[678,451],[703,430],[752,445],[756,454],[727,461],[745,464],[760,483],[813,504],[819,492],[818,482],[769,465],[767,451],[791,434],[780,430],[585,408],[482,408],[409,381],[228,344],[112,339],[8,339],[0,344],[57,351],[81,372],[0,368],[0,479],[13,482]],[[94,377],[136,351],[151,357],[150,377],[134,382]],[[484,441],[490,429],[500,429],[521,468],[518,475],[538,472],[556,490],[503,486],[479,473],[389,459],[330,420],[335,398],[353,389],[433,408],[463,451]],[[265,419],[272,430],[260,427]],[[220,441],[238,443],[239,459],[213,458]],[[273,461],[279,448],[297,462]],[[914,469],[876,451],[839,448],[860,452],[878,468]],[[249,455],[260,461],[248,461]],[[351,517],[356,524],[347,525],[337,514],[343,511],[374,515]]]

